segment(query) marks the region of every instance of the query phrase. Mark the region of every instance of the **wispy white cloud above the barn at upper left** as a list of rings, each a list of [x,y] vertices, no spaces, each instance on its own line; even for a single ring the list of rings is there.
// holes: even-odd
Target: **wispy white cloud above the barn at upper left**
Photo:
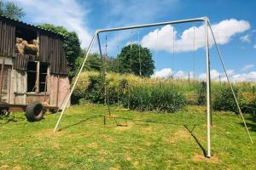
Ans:
[[[73,0],[14,0],[26,11],[26,19],[33,24],[49,23],[55,26],[64,26],[69,31],[76,31],[82,42],[82,47],[87,48],[91,35],[86,26],[86,17],[90,12],[77,1]]]

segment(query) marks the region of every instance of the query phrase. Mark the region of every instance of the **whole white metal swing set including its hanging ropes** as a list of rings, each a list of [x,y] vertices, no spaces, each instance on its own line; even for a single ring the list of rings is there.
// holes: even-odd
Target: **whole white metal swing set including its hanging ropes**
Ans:
[[[241,119],[243,121],[243,124],[244,124],[244,126],[246,128],[248,137],[249,137],[251,143],[253,144],[253,140],[252,140],[251,135],[250,135],[250,133],[248,131],[247,124],[246,124],[246,122],[244,120],[244,117],[243,117],[243,115],[241,113],[240,105],[238,104],[238,101],[236,99],[236,94],[234,93],[234,89],[233,89],[232,84],[230,82],[230,78],[229,78],[229,76],[227,74],[227,70],[226,70],[226,67],[224,65],[223,55],[221,54],[220,49],[218,48],[218,42],[216,41],[216,38],[215,38],[214,33],[212,31],[212,26],[211,26],[210,20],[207,17],[195,18],[195,19],[189,19],[189,20],[174,20],[174,21],[168,21],[168,22],[160,22],[160,23],[153,23],[153,24],[146,24],[146,25],[138,25],[138,26],[125,26],[125,27],[117,27],[117,28],[109,28],[109,29],[96,30],[94,36],[92,37],[92,40],[90,41],[89,48],[88,48],[86,54],[84,54],[84,60],[83,60],[82,64],[79,67],[79,71],[78,71],[76,77],[74,78],[73,87],[71,88],[70,93],[67,95],[67,99],[65,100],[63,110],[61,111],[61,115],[59,116],[58,121],[55,124],[54,133],[57,131],[57,129],[59,127],[59,124],[61,122],[61,118],[64,115],[64,112],[66,111],[68,101],[70,100],[71,95],[73,94],[73,90],[76,87],[76,84],[77,84],[77,82],[79,80],[79,76],[80,76],[81,72],[83,71],[85,62],[86,62],[86,60],[89,57],[90,50],[91,50],[94,42],[96,41],[96,39],[97,39],[97,42],[98,42],[99,54],[100,54],[100,56],[102,58],[102,76],[103,76],[103,81],[104,81],[105,104],[108,105],[108,113],[109,113],[109,116],[111,116],[110,106],[109,106],[109,99],[108,99],[108,90],[107,90],[107,84],[106,84],[106,58],[105,57],[108,56],[108,50],[107,50],[107,48],[108,48],[108,42],[107,42],[108,38],[106,37],[106,44],[105,44],[106,51],[105,51],[105,56],[104,56],[102,54],[102,46],[101,46],[101,40],[100,40],[101,39],[100,38],[101,33],[103,33],[103,32],[111,32],[111,31],[131,30],[131,34],[132,34],[132,31],[134,29],[137,29],[137,36],[138,36],[138,42],[137,43],[138,43],[138,45],[140,47],[140,44],[139,44],[140,43],[140,31],[139,31],[140,28],[146,28],[146,27],[152,27],[152,26],[177,25],[177,24],[192,23],[192,22],[193,23],[194,22],[202,22],[205,25],[205,40],[206,40],[206,48],[205,49],[206,49],[206,60],[207,60],[207,63],[206,63],[206,65],[207,65],[207,157],[211,157],[211,122],[212,122],[211,72],[210,72],[210,55],[209,55],[209,43],[208,43],[208,38],[209,38],[208,31],[210,31],[210,34],[212,35],[215,47],[216,47],[217,52],[218,52],[218,57],[220,59],[221,65],[222,65],[222,67],[224,69],[224,74],[225,74],[225,76],[227,78],[227,82],[228,82],[228,84],[230,86],[230,89],[232,91],[233,97],[236,100],[236,106],[238,108],[239,114],[240,114]],[[193,77],[195,78],[195,26],[194,26],[193,30],[194,30],[194,32],[193,32],[194,33],[194,37],[193,37],[193,43],[194,44],[193,44],[193,63],[192,63],[192,66],[193,66]],[[158,39],[158,31],[157,31],[157,39]],[[175,51],[174,40],[175,40],[175,37],[174,37],[174,29],[173,29],[172,70],[174,70],[174,51]],[[158,43],[157,41],[156,41],[156,43]],[[118,51],[119,51],[119,46],[117,48],[118,48]],[[132,51],[132,43],[130,44],[130,49]],[[156,54],[157,54],[157,51],[155,52],[155,57],[156,57]],[[142,77],[142,63],[141,63],[141,49],[140,48],[139,48],[139,55],[138,55],[138,57],[139,57],[139,67],[140,67],[139,68],[139,76]],[[130,63],[130,66],[131,66],[131,63]],[[119,72],[119,59],[118,59],[117,67],[118,67],[118,72]],[[130,67],[130,72],[131,72],[131,67]],[[172,77],[173,77],[173,75],[172,75]],[[128,90],[128,92],[129,92],[129,90]],[[118,102],[119,102],[119,94],[118,94]],[[105,121],[106,121],[106,117],[104,116],[104,122]]]

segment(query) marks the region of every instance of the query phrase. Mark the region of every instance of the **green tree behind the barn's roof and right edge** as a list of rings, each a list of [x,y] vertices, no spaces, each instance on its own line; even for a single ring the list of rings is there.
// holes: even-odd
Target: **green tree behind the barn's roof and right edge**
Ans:
[[[63,26],[54,26],[51,24],[43,24],[38,25],[39,27],[45,28],[50,31],[55,31],[56,33],[61,34],[63,39],[63,48],[67,56],[68,66],[71,70],[71,75],[73,75],[73,71],[75,71],[75,62],[79,57],[81,52],[79,37],[74,31],[67,31]]]

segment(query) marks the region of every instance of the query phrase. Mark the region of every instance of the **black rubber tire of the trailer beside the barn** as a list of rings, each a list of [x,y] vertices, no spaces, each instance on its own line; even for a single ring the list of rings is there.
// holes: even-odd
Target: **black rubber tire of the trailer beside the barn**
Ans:
[[[38,122],[44,117],[44,106],[40,102],[33,102],[26,105],[26,120]]]

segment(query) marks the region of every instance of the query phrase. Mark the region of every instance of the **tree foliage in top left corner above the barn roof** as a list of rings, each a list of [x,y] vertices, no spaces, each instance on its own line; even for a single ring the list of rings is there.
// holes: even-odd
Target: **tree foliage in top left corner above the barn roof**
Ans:
[[[20,8],[15,3],[6,2],[3,0],[0,0],[0,14],[15,20],[20,20],[25,16],[23,8]]]

